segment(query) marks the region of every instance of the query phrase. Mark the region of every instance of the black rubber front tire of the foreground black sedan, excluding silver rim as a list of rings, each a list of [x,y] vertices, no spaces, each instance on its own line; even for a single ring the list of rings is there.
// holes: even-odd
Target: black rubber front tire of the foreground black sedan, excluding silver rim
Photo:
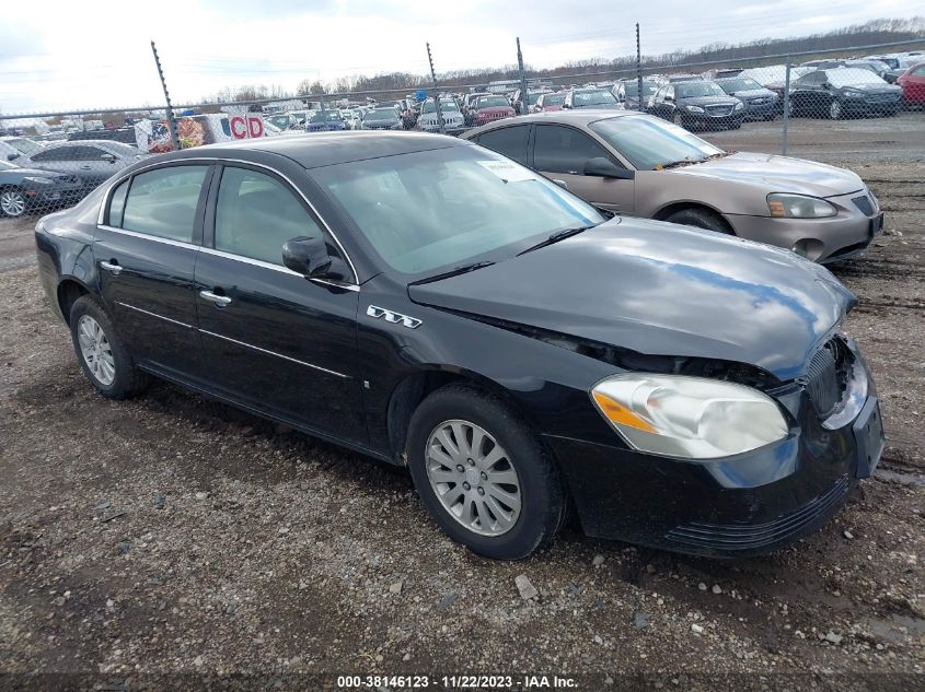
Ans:
[[[427,449],[431,434],[450,421],[478,425],[508,451],[520,483],[521,506],[513,527],[499,536],[483,536],[451,516],[431,488]],[[408,468],[424,506],[454,541],[495,560],[520,560],[546,546],[566,518],[562,477],[539,435],[499,398],[474,386],[448,385],[428,396],[412,417],[407,442]],[[490,491],[489,491],[490,492]]]

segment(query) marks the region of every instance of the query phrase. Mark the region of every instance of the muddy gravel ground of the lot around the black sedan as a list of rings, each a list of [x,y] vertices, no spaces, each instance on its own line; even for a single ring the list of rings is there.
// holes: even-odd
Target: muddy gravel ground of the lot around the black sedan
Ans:
[[[437,530],[398,470],[166,385],[128,402],[94,395],[34,269],[0,273],[0,680],[164,689],[242,673],[222,683],[336,689],[342,673],[481,672],[520,687],[523,673],[574,676],[581,690],[918,688],[925,152],[891,156],[844,156],[887,233],[833,268],[860,298],[847,331],[876,372],[888,448],[820,531],[745,561],[575,529],[525,562],[478,559]],[[0,223],[0,257],[32,223]],[[520,574],[539,599],[520,598]]]

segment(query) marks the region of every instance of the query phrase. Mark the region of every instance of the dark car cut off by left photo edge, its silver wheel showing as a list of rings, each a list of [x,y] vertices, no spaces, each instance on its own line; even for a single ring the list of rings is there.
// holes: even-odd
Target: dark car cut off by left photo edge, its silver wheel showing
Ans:
[[[50,211],[80,197],[80,180],[72,175],[21,168],[0,161],[0,216]]]

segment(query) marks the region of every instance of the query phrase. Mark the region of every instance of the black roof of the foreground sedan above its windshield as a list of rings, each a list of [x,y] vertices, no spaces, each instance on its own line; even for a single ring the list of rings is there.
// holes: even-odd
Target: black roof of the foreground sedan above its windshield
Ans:
[[[167,156],[171,159],[185,159],[187,156],[216,156],[219,159],[229,154],[240,154],[241,151],[253,151],[286,156],[304,168],[320,168],[338,163],[351,163],[450,146],[470,146],[470,144],[454,137],[429,132],[354,130],[261,137],[239,142],[195,146],[173,152]]]

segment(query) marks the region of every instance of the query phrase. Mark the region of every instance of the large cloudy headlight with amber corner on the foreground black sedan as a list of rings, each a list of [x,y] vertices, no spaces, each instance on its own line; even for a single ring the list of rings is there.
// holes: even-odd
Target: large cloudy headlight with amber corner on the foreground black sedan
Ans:
[[[636,373],[599,382],[591,398],[635,449],[715,459],[784,439],[787,422],[758,389],[702,377]]]

